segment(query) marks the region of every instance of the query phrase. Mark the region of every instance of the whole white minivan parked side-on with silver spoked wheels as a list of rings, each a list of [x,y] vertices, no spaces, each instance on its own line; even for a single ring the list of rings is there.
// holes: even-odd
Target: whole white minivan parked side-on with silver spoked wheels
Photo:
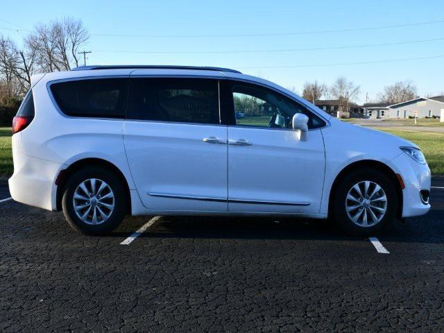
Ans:
[[[38,74],[12,131],[12,198],[85,234],[126,214],[205,214],[331,217],[364,235],[430,209],[418,146],[232,69]]]

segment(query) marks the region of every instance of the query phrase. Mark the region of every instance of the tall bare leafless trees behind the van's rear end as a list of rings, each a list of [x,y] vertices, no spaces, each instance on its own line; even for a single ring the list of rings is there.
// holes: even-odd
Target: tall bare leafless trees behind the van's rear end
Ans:
[[[20,45],[0,35],[0,105],[22,99],[33,74],[77,67],[78,51],[88,40],[87,28],[71,17],[37,24]]]

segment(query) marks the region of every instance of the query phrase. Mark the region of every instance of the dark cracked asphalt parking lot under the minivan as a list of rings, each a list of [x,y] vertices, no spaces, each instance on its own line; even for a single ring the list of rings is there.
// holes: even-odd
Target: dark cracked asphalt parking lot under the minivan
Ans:
[[[1,185],[0,332],[442,332],[432,185],[432,211],[376,247],[303,219],[151,216],[85,237]]]

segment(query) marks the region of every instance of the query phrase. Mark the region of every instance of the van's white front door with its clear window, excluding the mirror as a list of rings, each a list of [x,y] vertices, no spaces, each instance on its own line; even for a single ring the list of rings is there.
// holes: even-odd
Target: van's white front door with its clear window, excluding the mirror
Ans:
[[[271,89],[231,83],[234,124],[228,126],[230,212],[318,213],[324,183],[325,123]],[[308,140],[291,129],[296,112],[309,116]]]

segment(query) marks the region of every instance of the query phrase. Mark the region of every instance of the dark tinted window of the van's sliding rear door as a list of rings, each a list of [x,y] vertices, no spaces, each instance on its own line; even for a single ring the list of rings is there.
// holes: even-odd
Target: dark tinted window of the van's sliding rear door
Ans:
[[[127,118],[219,123],[217,80],[132,78]]]

